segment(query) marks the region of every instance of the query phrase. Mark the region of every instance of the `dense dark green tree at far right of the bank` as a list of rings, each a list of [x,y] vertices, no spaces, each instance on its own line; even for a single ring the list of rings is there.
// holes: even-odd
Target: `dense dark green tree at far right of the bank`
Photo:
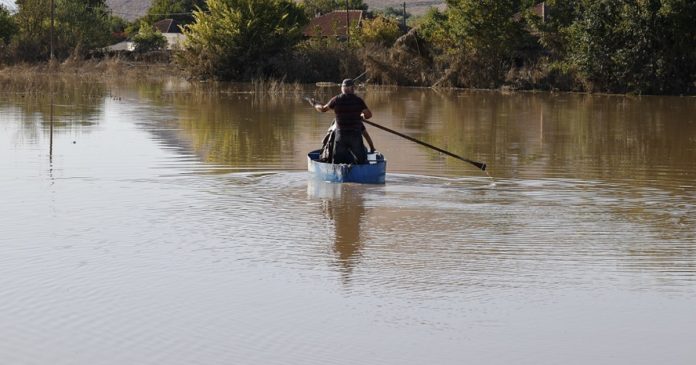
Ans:
[[[696,78],[696,3],[583,0],[562,29],[565,65],[588,90],[675,93]]]

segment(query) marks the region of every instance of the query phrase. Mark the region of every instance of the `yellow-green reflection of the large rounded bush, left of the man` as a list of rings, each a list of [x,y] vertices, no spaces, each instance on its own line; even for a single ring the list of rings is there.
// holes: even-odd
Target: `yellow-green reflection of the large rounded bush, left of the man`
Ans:
[[[185,145],[202,161],[257,166],[296,159],[295,115],[308,109],[296,102],[302,95],[297,85],[168,80],[143,83],[136,90],[148,104],[174,108],[175,119],[159,122],[163,128],[153,132],[165,143]]]

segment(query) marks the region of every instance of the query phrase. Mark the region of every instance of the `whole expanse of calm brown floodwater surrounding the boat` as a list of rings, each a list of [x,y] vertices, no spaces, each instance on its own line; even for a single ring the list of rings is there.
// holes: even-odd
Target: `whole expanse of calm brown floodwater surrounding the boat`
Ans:
[[[0,363],[693,363],[696,99],[361,89],[491,175],[372,128],[368,186],[336,92],[4,85]]]

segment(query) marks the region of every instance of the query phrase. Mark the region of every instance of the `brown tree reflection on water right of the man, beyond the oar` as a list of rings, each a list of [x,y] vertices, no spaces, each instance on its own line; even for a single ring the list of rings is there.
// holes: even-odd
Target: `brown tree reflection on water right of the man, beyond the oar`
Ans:
[[[377,110],[389,105],[394,128],[461,156],[481,156],[498,176],[696,176],[691,98],[418,89],[382,95],[369,100]]]

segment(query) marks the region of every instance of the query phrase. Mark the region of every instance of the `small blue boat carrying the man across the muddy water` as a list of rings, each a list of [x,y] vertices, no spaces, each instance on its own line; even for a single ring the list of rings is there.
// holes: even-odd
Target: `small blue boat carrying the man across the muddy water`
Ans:
[[[365,164],[333,164],[319,161],[321,150],[307,154],[307,169],[313,178],[329,182],[384,184],[387,160],[377,152],[376,159]]]

